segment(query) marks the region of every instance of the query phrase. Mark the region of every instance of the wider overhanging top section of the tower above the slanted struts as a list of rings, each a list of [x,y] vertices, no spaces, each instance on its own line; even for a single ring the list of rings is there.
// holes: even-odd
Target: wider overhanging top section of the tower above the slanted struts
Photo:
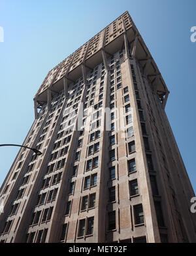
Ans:
[[[129,12],[124,12],[122,16],[114,20],[114,22],[97,33],[97,35],[82,45],[82,47],[50,70],[35,95],[36,100],[46,102],[48,88],[54,94],[63,90],[63,77],[67,77],[68,83],[76,81],[76,79],[82,76],[82,64],[86,66],[87,70],[95,68],[95,66],[103,61],[102,49],[104,49],[108,56],[121,50],[124,45],[124,33],[127,35],[129,48],[132,49],[130,58],[134,57],[139,61],[143,74],[152,83],[157,95],[159,95],[159,98],[165,105],[169,91],[154,59],[148,51],[133,20],[131,20]]]

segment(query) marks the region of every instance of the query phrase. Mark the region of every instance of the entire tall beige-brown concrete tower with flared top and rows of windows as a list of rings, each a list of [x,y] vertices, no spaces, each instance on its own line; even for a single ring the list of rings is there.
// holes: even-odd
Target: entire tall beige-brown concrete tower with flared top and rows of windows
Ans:
[[[196,242],[169,91],[128,12],[53,68],[1,186],[5,243]]]

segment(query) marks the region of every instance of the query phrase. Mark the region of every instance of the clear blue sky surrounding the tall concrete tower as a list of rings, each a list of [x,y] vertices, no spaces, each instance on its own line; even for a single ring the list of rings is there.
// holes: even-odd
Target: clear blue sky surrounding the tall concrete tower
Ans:
[[[34,119],[33,96],[48,71],[129,11],[171,91],[166,112],[196,191],[195,10],[195,0],[1,0],[0,143],[22,144]],[[0,185],[17,152],[0,148]]]

